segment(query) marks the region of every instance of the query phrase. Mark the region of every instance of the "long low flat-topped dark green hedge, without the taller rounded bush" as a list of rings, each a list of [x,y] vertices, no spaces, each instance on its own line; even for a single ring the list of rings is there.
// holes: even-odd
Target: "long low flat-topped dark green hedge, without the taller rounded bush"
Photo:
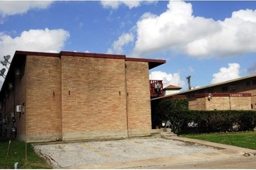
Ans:
[[[251,131],[256,127],[253,110],[177,110],[166,118],[176,134]]]

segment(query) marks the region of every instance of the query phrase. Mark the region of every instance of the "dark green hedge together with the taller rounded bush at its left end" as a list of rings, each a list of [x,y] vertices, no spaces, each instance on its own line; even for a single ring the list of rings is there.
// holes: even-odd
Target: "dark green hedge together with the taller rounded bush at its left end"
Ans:
[[[176,134],[250,131],[256,127],[254,110],[189,110],[184,98],[155,103],[152,118],[154,126],[170,121]]]

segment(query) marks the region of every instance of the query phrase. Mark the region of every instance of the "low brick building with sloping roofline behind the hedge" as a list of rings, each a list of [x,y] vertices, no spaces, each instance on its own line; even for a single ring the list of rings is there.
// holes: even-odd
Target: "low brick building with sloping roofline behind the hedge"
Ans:
[[[189,110],[256,110],[256,75],[182,91],[154,100],[183,95]]]

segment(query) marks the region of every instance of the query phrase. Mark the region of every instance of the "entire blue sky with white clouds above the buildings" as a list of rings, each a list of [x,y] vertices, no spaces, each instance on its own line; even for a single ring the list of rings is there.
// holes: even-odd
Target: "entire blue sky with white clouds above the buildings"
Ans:
[[[1,58],[65,50],[166,59],[150,79],[182,90],[187,76],[203,87],[255,74],[255,30],[253,1],[0,2]]]

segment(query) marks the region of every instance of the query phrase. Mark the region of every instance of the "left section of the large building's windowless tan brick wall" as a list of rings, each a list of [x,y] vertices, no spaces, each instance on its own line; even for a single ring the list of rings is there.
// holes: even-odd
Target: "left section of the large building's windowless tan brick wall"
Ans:
[[[61,138],[61,59],[26,57],[27,141]]]

